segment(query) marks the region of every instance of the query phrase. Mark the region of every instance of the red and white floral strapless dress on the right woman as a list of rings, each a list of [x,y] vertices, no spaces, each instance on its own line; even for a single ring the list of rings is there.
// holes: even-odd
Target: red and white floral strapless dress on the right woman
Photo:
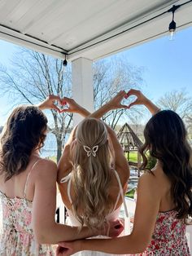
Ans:
[[[159,212],[151,244],[144,253],[136,255],[190,256],[185,236],[186,225],[176,215],[176,210]]]

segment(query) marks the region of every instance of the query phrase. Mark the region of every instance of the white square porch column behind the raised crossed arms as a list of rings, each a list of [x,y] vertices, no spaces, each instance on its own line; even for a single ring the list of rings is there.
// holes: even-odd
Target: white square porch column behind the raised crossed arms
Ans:
[[[79,58],[72,61],[72,97],[89,112],[94,111],[92,60]],[[74,114],[73,125],[76,126],[82,119]]]

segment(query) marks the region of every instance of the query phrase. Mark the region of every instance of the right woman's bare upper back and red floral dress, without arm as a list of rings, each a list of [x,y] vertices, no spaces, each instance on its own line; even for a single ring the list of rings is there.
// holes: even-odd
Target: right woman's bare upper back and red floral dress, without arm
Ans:
[[[176,205],[171,193],[171,181],[158,162],[151,172],[142,175],[142,181],[151,185],[151,196],[159,198],[159,213],[155,221],[150,245],[139,255],[189,256],[183,218],[177,218]],[[182,252],[182,254],[181,254]]]

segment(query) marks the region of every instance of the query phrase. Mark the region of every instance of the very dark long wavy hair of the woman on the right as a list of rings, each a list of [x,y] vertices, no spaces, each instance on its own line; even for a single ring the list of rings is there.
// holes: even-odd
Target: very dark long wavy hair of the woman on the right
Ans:
[[[147,122],[144,130],[145,143],[142,168],[146,168],[147,155],[155,157],[163,165],[172,183],[171,193],[177,210],[177,218],[192,215],[192,166],[191,148],[186,139],[186,130],[181,117],[171,110],[156,113]]]

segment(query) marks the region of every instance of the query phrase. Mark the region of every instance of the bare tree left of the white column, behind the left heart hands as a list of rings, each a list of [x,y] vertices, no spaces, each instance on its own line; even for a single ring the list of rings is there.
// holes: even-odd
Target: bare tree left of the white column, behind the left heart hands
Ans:
[[[14,104],[37,104],[48,95],[71,96],[71,72],[63,73],[61,60],[22,49],[15,54],[11,70],[0,68],[1,94],[8,93]],[[13,106],[14,104],[11,104]],[[57,160],[70,126],[72,114],[50,110],[49,131],[57,142]]]

